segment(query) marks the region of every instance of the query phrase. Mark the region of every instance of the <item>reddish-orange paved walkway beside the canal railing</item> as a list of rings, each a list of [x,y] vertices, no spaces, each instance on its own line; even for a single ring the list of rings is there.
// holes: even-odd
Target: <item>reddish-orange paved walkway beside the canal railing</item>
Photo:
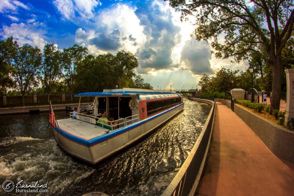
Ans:
[[[277,158],[226,105],[216,102],[196,195],[294,195],[294,163]]]

